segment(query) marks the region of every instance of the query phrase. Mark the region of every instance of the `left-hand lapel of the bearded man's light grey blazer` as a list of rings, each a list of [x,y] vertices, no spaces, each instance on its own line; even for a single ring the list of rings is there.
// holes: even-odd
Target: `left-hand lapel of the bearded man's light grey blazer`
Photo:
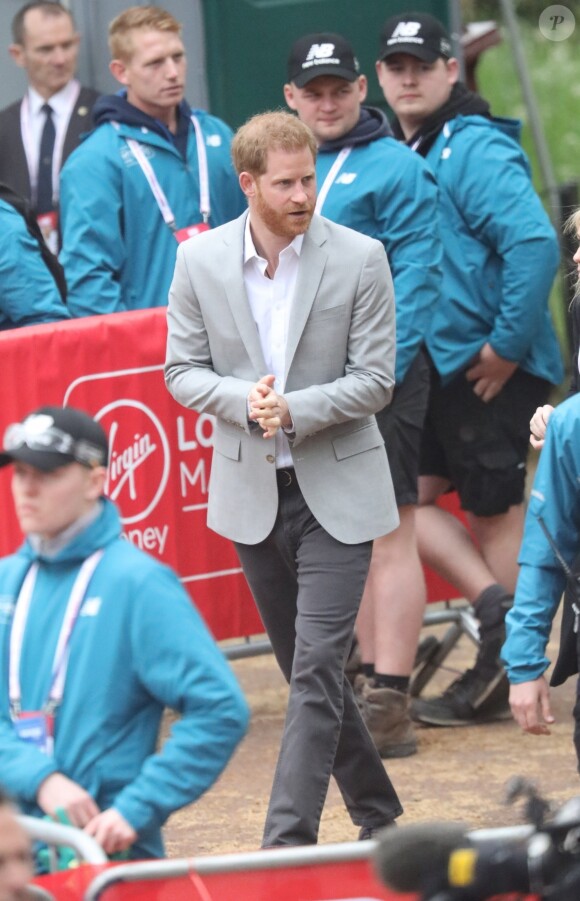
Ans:
[[[250,360],[259,362],[259,371],[266,375],[266,361],[262,353],[260,335],[252,316],[244,286],[244,228],[247,213],[231,223],[224,234],[227,251],[224,255],[223,286],[232,316]],[[225,262],[227,260],[227,263]]]

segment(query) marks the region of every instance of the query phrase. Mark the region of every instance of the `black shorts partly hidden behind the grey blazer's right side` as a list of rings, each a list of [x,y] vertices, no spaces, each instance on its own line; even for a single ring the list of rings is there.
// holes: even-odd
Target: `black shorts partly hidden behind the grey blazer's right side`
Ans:
[[[429,401],[429,364],[422,351],[395,387],[388,407],[377,413],[387,448],[397,506],[416,504],[421,432]]]

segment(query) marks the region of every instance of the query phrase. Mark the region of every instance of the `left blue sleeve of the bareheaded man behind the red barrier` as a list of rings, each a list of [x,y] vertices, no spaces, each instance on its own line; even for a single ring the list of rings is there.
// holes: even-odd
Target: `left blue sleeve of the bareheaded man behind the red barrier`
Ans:
[[[60,260],[71,315],[94,316],[125,309],[120,283],[126,257],[120,172],[106,148],[90,138],[62,169],[60,204]]]

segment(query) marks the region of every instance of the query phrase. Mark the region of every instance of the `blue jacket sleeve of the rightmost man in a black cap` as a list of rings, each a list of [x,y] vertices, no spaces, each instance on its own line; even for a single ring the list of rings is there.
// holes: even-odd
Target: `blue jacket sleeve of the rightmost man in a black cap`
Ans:
[[[518,363],[542,327],[558,241],[521,148],[497,128],[477,133],[477,142],[461,133],[452,142],[458,157],[454,201],[471,231],[502,262],[501,307],[488,340],[499,356]]]

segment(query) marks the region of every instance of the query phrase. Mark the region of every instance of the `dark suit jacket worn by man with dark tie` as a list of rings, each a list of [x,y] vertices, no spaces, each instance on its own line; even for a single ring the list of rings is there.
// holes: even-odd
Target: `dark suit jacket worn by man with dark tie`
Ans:
[[[98,97],[92,88],[81,88],[64,139],[63,164],[78,146],[81,135],[91,130],[91,109]],[[21,105],[22,101],[18,100],[0,110],[0,181],[10,185],[21,197],[31,200],[30,175],[20,128]]]

